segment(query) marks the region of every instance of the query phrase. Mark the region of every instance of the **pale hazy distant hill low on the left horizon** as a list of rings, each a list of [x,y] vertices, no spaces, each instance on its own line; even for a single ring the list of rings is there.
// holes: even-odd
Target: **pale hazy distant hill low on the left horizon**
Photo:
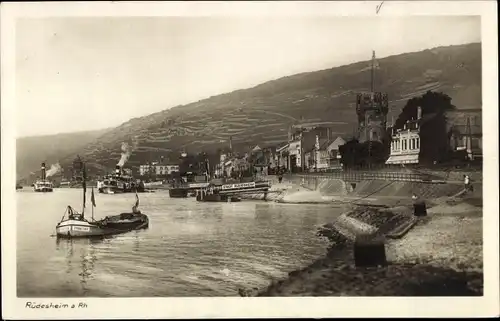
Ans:
[[[34,171],[39,174],[40,163],[50,164],[75,155],[82,148],[104,134],[106,130],[62,133],[47,136],[22,137],[16,141],[16,174],[25,178]]]

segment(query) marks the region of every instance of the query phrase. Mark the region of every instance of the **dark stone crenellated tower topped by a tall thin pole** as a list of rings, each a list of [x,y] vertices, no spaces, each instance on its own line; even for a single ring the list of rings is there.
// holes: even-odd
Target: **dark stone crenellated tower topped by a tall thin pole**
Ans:
[[[356,95],[358,139],[360,143],[366,141],[382,142],[386,135],[389,99],[387,93],[374,91],[375,68],[376,61],[374,51],[371,66],[371,91],[368,93],[358,93]]]

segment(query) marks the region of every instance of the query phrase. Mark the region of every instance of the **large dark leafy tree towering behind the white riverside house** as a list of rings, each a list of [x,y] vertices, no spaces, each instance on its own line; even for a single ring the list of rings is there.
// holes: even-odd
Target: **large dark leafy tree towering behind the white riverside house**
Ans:
[[[407,121],[417,119],[418,107],[422,118],[420,127],[420,163],[433,163],[446,160],[449,155],[449,133],[446,112],[456,109],[451,98],[441,92],[428,91],[406,103],[394,124],[394,129],[403,129]]]

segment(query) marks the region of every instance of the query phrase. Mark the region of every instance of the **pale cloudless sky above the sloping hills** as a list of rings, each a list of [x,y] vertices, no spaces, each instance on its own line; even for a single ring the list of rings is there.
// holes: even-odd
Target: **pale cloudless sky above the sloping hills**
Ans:
[[[17,137],[102,129],[300,72],[481,41],[479,17],[73,17],[16,24]]]

